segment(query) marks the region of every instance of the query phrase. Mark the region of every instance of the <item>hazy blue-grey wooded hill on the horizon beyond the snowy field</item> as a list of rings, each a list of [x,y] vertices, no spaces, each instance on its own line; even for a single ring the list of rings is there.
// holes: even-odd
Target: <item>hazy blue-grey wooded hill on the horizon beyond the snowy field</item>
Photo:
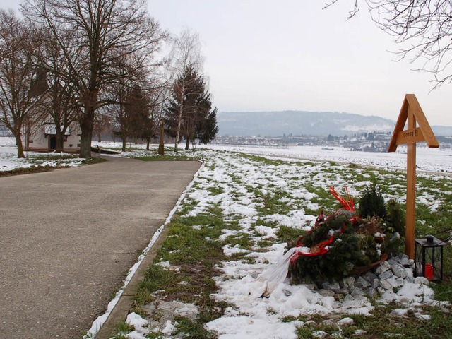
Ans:
[[[396,121],[340,112],[218,112],[218,136],[352,136],[392,132]],[[432,126],[436,136],[452,136],[452,127]]]

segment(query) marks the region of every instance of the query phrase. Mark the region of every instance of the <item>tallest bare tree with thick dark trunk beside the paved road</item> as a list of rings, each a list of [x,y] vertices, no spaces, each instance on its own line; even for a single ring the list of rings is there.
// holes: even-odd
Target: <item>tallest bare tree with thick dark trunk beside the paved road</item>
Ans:
[[[137,68],[150,66],[166,33],[149,16],[145,0],[26,0],[22,9],[61,47],[69,65],[64,76],[82,106],[80,155],[90,157],[95,110],[103,105],[100,92],[124,76],[115,68],[117,60],[135,54],[141,58]]]

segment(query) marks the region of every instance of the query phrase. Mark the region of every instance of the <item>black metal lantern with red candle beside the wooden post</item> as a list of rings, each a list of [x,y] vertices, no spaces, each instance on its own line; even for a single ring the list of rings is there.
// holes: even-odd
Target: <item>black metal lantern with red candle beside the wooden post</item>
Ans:
[[[443,246],[444,242],[432,235],[415,240],[415,276],[443,280]]]

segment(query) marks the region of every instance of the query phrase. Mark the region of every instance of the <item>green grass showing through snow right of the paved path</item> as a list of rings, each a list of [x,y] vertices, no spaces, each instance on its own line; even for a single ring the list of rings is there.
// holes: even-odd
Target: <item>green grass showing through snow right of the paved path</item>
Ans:
[[[200,155],[202,156],[202,154]],[[263,173],[273,170],[278,173],[278,167],[286,164],[283,160],[269,160],[266,157],[254,155],[229,155],[234,161],[246,163],[250,169],[261,170]],[[148,160],[148,159],[143,159]],[[206,168],[214,169],[215,162],[206,161]],[[133,310],[146,316],[143,310],[146,304],[159,301],[159,291],[170,300],[195,304],[198,315],[195,319],[177,317],[177,331],[174,335],[181,338],[216,338],[215,333],[206,331],[204,324],[224,314],[225,302],[218,302],[211,295],[217,292],[215,279],[220,278],[218,266],[225,261],[242,261],[251,263],[251,258],[244,254],[225,256],[222,248],[225,245],[238,246],[240,249],[268,249],[278,242],[287,242],[288,239],[297,241],[305,234],[301,230],[305,225],[297,228],[280,225],[276,220],[268,219],[271,215],[288,215],[292,210],[304,210],[304,214],[317,215],[323,209],[326,214],[338,208],[338,203],[332,198],[329,186],[335,186],[339,194],[345,195],[345,186],[353,186],[356,191],[364,187],[371,178],[378,178],[383,196],[387,198],[403,197],[406,180],[400,172],[391,172],[383,169],[367,168],[355,164],[347,166],[334,162],[290,162],[292,168],[285,167],[284,175],[290,177],[285,181],[286,186],[280,186],[278,178],[274,180],[261,180],[253,182],[250,178],[255,172],[232,171],[232,174],[220,182],[213,182],[206,189],[208,196],[218,196],[225,191],[230,192],[231,201],[239,203],[245,196],[255,204],[257,215],[254,216],[249,230],[242,228],[242,215],[225,215],[223,207],[212,204],[210,208],[201,213],[191,213],[197,207],[197,202],[188,196],[179,210],[179,215],[173,218],[169,227],[169,234],[162,244],[162,249],[155,263],[148,269],[146,278],[138,291]],[[231,164],[231,166],[233,166]],[[291,174],[292,173],[292,174]],[[211,180],[209,177],[199,179],[203,182]],[[309,178],[309,180],[305,180]],[[328,179],[325,179],[328,178]],[[299,183],[303,182],[303,187]],[[228,187],[229,186],[229,187]],[[200,182],[194,187],[203,189]],[[294,196],[294,192],[303,189],[314,198]],[[448,237],[451,226],[448,224],[452,211],[451,194],[441,192],[452,191],[450,179],[436,179],[422,176],[418,180],[417,196],[425,199],[417,201],[417,237],[424,234],[433,234],[441,238]],[[359,197],[355,197],[356,203]],[[433,207],[429,201],[436,204]],[[309,207],[308,207],[309,206]],[[317,207],[317,208],[316,208]],[[276,230],[276,239],[264,238],[257,232],[257,226],[266,226]],[[234,231],[228,237],[220,237],[228,230]],[[160,263],[169,261],[177,270],[168,270]],[[452,302],[452,248],[444,249],[444,281],[432,284],[436,298]],[[396,304],[375,304],[370,316],[362,315],[322,315],[303,314],[298,317],[280,315],[283,322],[297,321],[302,324],[297,328],[297,338],[318,338],[320,333],[326,333],[323,338],[451,338],[452,322],[448,314],[438,307],[423,307],[419,309],[422,314],[431,316],[429,321],[420,321],[414,312],[406,317],[392,315]],[[448,307],[450,310],[450,307]],[[275,309],[268,308],[267,313],[278,316]],[[156,319],[159,315],[154,314]],[[349,316],[353,323],[339,326],[340,318]],[[150,338],[153,338],[152,336]],[[154,338],[158,338],[157,334]]]

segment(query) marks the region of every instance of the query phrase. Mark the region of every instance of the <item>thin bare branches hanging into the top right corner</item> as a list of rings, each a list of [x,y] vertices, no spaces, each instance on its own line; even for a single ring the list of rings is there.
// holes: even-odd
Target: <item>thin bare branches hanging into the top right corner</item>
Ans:
[[[326,4],[331,6],[339,0]],[[359,11],[353,0],[349,18]],[[417,71],[432,73],[434,88],[452,83],[452,1],[444,0],[362,0],[372,19],[396,38],[398,60],[408,59],[422,66]]]

